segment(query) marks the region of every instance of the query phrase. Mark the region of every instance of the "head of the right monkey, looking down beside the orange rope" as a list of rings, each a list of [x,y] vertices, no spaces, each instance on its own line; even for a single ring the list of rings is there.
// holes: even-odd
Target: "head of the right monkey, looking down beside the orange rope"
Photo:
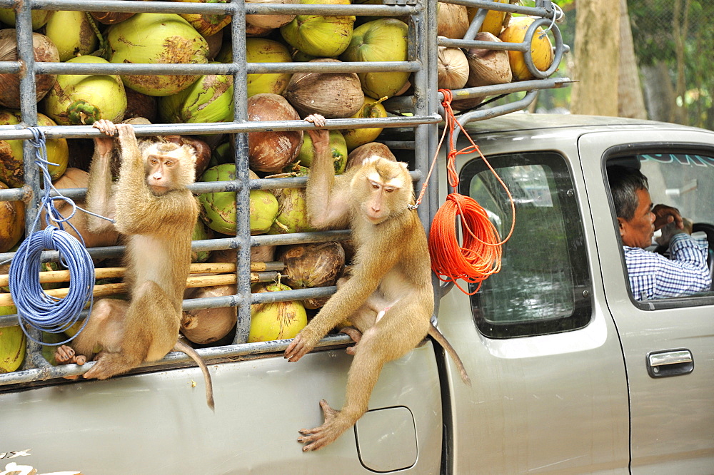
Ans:
[[[414,190],[408,165],[372,156],[362,162],[351,188],[361,215],[377,225],[401,214],[414,203]]]

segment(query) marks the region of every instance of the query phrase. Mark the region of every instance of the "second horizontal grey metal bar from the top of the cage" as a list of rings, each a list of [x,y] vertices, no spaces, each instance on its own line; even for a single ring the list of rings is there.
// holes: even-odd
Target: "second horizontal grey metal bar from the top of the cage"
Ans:
[[[485,43],[488,43],[486,41]],[[0,62],[0,72],[17,72],[20,63]],[[231,76],[245,69],[248,74],[261,73],[370,73],[403,71],[414,72],[421,68],[418,61],[341,61],[316,63],[293,61],[287,63],[50,63],[36,62],[36,74],[118,74],[118,75],[159,75],[159,74],[218,74]]]

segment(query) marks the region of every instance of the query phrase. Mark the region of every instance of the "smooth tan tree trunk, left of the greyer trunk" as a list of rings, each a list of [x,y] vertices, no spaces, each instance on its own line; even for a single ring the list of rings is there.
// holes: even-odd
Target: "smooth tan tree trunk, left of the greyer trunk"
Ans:
[[[578,0],[570,112],[617,116],[620,0]]]

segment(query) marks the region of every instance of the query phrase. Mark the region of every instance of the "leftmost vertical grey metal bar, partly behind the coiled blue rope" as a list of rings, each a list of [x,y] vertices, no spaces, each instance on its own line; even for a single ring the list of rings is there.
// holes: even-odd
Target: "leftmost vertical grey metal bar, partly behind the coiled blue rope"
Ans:
[[[32,46],[32,11],[29,1],[21,1],[15,11],[15,29],[17,39],[17,56],[22,63],[20,72],[20,115],[22,125],[32,127],[37,125],[37,99],[35,88],[35,53]],[[39,213],[40,180],[39,170],[34,161],[35,149],[29,141],[22,143],[22,159],[24,168],[24,188],[29,188],[29,198],[25,200],[25,235],[29,235],[34,220]],[[27,329],[31,337],[41,339],[41,333],[34,328]],[[27,356],[24,368],[50,367],[51,364],[42,356],[41,345],[27,340]]]

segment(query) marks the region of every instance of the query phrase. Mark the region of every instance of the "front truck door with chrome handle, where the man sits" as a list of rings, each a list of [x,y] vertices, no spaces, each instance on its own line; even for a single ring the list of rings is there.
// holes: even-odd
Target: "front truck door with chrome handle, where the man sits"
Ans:
[[[714,135],[688,129],[592,133],[581,138],[580,153],[605,295],[627,366],[632,472],[711,473],[714,297],[700,292],[635,300],[603,171],[613,162],[639,167],[653,203],[673,205],[708,230],[714,223]]]

